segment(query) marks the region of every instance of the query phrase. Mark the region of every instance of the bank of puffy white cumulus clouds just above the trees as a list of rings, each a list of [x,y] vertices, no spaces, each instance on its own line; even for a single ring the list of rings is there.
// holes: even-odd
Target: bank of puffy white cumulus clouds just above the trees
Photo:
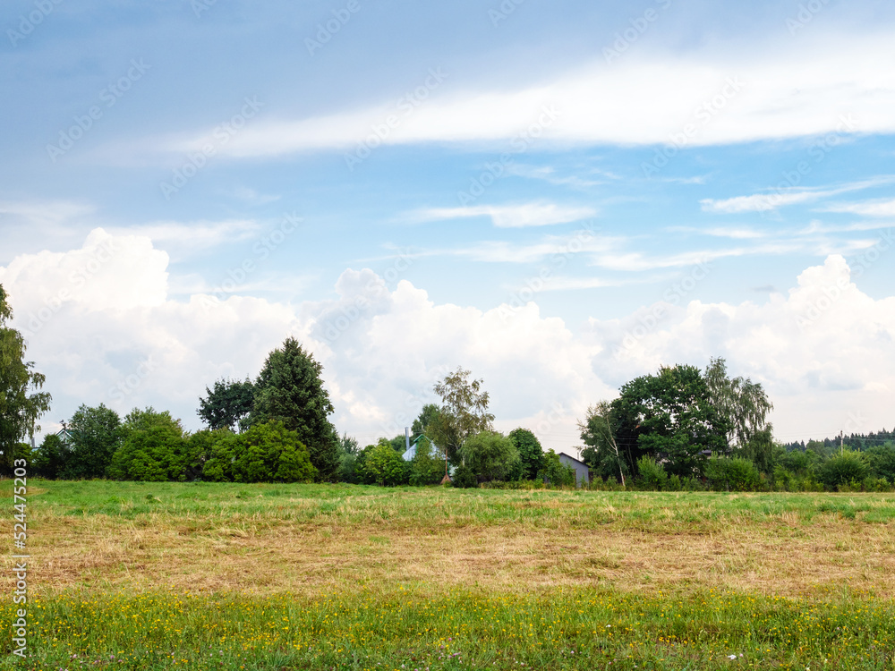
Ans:
[[[114,253],[105,258],[104,249]],[[499,429],[526,426],[546,446],[568,450],[580,444],[575,420],[588,404],[662,364],[703,366],[712,355],[763,382],[780,437],[891,426],[895,296],[863,293],[865,266],[849,268],[839,256],[764,302],[685,303],[686,294],[671,293],[581,330],[543,316],[536,302],[489,310],[437,303],[407,281],[389,289],[369,269],[345,270],[336,297],[322,302],[175,300],[166,267],[149,238],[97,229],[81,249],[22,255],[0,268],[14,325],[28,332],[29,357],[55,397],[48,419],[80,403],[120,412],[151,404],[196,429],[206,385],[253,376],[294,335],[324,365],[337,428],[362,442],[400,432],[435,400],[435,380],[462,365],[485,380]]]

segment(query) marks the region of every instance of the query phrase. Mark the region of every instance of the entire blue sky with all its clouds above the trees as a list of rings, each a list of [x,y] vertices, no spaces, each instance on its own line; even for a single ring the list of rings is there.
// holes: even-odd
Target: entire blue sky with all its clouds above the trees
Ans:
[[[723,356],[781,439],[895,389],[895,7],[11,2],[0,282],[55,397],[151,404],[286,335],[337,428],[463,365],[546,446]]]

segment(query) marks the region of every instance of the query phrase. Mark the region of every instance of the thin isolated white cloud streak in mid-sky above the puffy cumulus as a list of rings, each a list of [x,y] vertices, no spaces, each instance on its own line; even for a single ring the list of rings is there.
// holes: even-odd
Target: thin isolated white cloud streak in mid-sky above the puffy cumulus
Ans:
[[[465,208],[426,208],[410,213],[417,221],[447,221],[470,217],[490,217],[498,228],[549,226],[580,221],[596,215],[594,208],[575,208],[556,203],[533,202],[519,205],[475,205]]]

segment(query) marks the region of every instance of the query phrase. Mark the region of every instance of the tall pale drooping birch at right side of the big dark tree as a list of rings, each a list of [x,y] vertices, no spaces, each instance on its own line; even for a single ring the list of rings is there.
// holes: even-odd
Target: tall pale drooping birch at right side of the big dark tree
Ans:
[[[705,369],[709,398],[728,426],[729,446],[752,461],[760,471],[773,470],[773,437],[768,413],[773,404],[759,382],[729,378],[727,363],[713,358]]]

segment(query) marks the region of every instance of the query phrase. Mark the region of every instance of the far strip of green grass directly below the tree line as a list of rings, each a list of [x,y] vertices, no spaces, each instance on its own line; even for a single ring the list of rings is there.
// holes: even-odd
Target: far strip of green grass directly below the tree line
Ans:
[[[715,492],[507,491],[379,488],[356,485],[243,485],[238,483],[52,482],[32,480],[32,495],[57,514],[162,517],[262,517],[289,522],[360,523],[371,514],[390,522],[500,525],[507,522],[615,524],[652,531],[669,525],[714,528],[762,523],[784,514],[810,523],[815,514],[895,521],[893,494],[729,494]],[[295,505],[299,503],[301,505]],[[436,505],[439,504],[439,505]],[[550,507],[562,505],[564,510]],[[658,513],[658,514],[657,514]]]

